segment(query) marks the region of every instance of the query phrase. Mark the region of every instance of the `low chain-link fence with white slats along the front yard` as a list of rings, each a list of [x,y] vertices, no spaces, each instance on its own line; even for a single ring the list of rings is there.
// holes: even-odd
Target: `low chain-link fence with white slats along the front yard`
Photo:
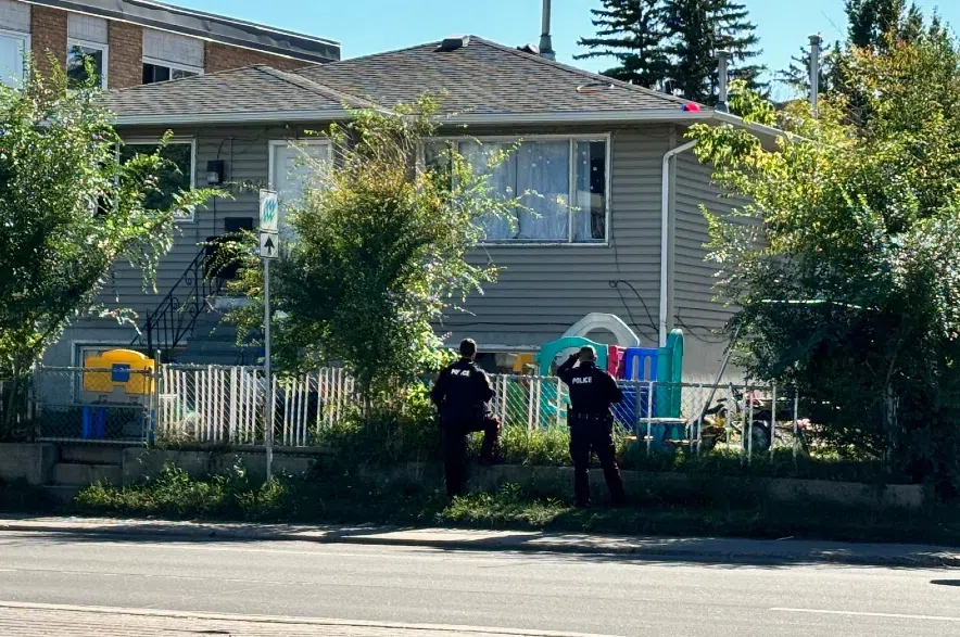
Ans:
[[[559,379],[494,374],[491,383],[491,408],[504,425],[566,426],[570,399]],[[795,392],[747,383],[619,384],[623,400],[614,406],[615,421],[647,451],[730,449],[750,458],[776,447],[808,448],[810,424],[798,417]],[[356,383],[343,369],[275,375],[268,392],[260,367],[162,365],[155,374],[40,367],[29,415],[46,441],[258,447],[266,444],[268,393],[277,447],[320,446],[325,429],[361,410]]]

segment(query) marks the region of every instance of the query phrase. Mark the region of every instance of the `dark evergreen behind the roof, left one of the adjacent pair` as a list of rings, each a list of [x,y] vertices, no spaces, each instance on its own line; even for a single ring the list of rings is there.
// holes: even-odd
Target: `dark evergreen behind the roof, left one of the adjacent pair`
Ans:
[[[596,37],[577,42],[590,49],[574,60],[615,58],[619,65],[604,75],[647,88],[658,88],[667,76],[661,0],[603,0],[591,9]]]

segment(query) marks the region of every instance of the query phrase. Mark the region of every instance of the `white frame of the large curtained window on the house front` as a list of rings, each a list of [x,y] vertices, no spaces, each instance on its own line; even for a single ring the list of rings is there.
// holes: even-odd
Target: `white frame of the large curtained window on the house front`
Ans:
[[[604,157],[605,165],[605,183],[604,183],[604,239],[595,240],[595,241],[573,241],[573,214],[571,211],[568,211],[567,214],[567,240],[566,241],[556,241],[552,239],[545,239],[543,241],[529,241],[529,240],[518,240],[518,239],[505,239],[502,241],[483,241],[480,243],[482,247],[557,247],[557,246],[569,246],[569,247],[609,247],[610,245],[610,200],[611,200],[611,156],[612,156],[612,146],[611,146],[612,135],[610,132],[598,132],[595,135],[586,135],[586,133],[571,133],[571,135],[490,135],[490,136],[439,136],[432,137],[425,140],[425,143],[430,142],[449,142],[449,143],[458,143],[458,142],[469,142],[469,141],[479,141],[480,143],[519,143],[525,141],[557,141],[557,140],[568,140],[570,148],[570,191],[567,193],[567,205],[572,206],[574,201],[574,177],[576,177],[576,144],[581,141],[602,141],[605,143],[606,148],[606,157]],[[420,146],[418,163],[422,166],[425,165],[424,160],[424,148]]]

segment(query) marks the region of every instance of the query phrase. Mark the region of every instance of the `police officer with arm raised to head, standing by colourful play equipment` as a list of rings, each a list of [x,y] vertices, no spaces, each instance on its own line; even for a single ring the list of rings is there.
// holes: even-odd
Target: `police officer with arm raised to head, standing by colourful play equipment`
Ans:
[[[577,361],[580,365],[577,365]],[[582,347],[557,369],[557,375],[570,388],[570,456],[573,458],[573,494],[578,507],[590,505],[590,456],[599,458],[604,477],[615,505],[622,505],[627,495],[620,468],[615,460],[612,403],[623,399],[623,392],[606,371],[596,366],[593,347]]]

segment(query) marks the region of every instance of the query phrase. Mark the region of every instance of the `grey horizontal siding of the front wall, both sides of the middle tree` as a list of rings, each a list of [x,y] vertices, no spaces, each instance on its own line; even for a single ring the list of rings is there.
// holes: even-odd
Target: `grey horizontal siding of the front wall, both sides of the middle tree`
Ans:
[[[320,125],[306,127],[316,130]],[[471,259],[491,258],[502,269],[500,281],[472,295],[466,308],[470,314],[452,313],[442,333],[450,341],[470,335],[484,346],[539,346],[561,335],[590,313],[610,313],[636,331],[644,345],[657,340],[659,254],[660,254],[660,162],[670,148],[668,126],[630,128],[564,127],[561,129],[472,128],[457,135],[611,135],[610,224],[608,245],[501,245],[478,250]],[[124,137],[159,137],[162,129],[124,129]],[[157,271],[157,293],[143,294],[139,270],[126,264],[115,267],[113,280],[104,289],[103,303],[131,307],[142,324],[184,273],[207,237],[224,232],[226,217],[257,215],[256,187],[266,186],[268,142],[302,136],[302,131],[274,127],[177,128],[178,138],[197,138],[195,183],[206,184],[206,162],[226,162],[228,182],[249,182],[252,190],[231,189],[232,200],[218,200],[195,212],[194,221],[179,225],[175,246]],[[624,280],[633,285],[646,304],[626,284],[620,293],[610,281]],[[189,296],[187,294],[186,296]],[[94,330],[94,328],[97,328]],[[96,334],[96,337],[93,336]],[[112,321],[83,322],[64,339],[101,340],[117,334],[117,340],[132,339],[129,328],[118,329]],[[598,335],[599,336],[599,335]],[[602,337],[602,336],[601,336]],[[62,348],[60,348],[62,349]],[[65,364],[60,361],[60,364]]]

